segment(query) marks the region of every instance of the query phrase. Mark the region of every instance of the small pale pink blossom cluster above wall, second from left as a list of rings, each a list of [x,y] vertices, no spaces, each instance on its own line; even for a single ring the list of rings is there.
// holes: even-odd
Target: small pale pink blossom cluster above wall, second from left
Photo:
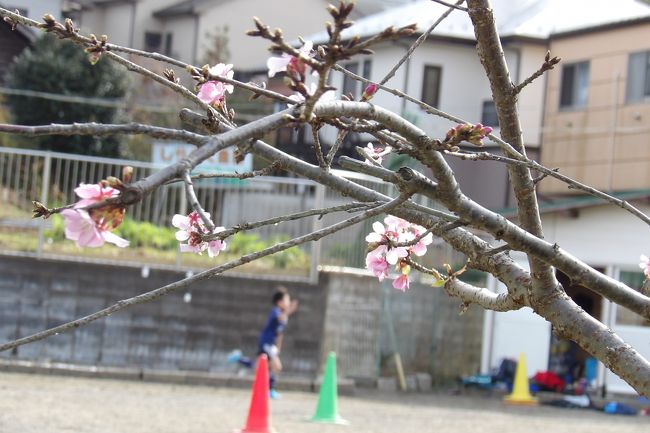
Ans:
[[[210,214],[206,214],[210,218]],[[205,241],[203,236],[219,233],[224,231],[224,227],[216,227],[212,232],[203,224],[201,216],[197,212],[191,212],[189,215],[176,214],[172,218],[172,225],[179,229],[176,232],[176,240],[181,242],[180,249],[182,253],[197,253],[201,255],[203,251],[208,252],[208,256],[215,257],[226,249],[226,242],[220,240]],[[187,242],[187,243],[183,243]]]

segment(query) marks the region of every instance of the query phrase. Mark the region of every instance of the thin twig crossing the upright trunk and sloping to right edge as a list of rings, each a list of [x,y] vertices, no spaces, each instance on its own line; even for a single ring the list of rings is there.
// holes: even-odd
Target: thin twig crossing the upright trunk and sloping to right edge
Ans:
[[[504,162],[506,164],[510,165],[521,165],[524,167],[528,167],[530,169],[539,171],[540,173],[543,173],[545,176],[550,176],[554,177],[555,179],[558,179],[564,183],[566,183],[569,187],[569,189],[577,189],[580,191],[584,191],[589,195],[592,195],[594,197],[598,197],[600,199],[603,199],[609,203],[614,204],[615,206],[618,206],[622,209],[625,209],[626,211],[630,212],[632,215],[643,221],[644,223],[650,225],[650,217],[648,217],[646,214],[641,212],[638,208],[635,206],[631,205],[628,201],[626,200],[621,200],[619,198],[616,198],[614,196],[611,196],[609,194],[606,194],[600,190],[597,190],[596,188],[592,188],[589,185],[586,185],[582,182],[578,182],[576,180],[571,179],[568,176],[565,176],[561,173],[558,173],[554,169],[550,169],[548,167],[545,167],[539,163],[537,163],[534,160],[526,160],[526,161],[519,161],[516,159],[508,158],[505,156],[500,156],[500,155],[494,155],[489,152],[445,152],[447,155],[452,155],[456,156],[460,159],[463,160],[468,160],[468,161],[498,161],[498,162]]]

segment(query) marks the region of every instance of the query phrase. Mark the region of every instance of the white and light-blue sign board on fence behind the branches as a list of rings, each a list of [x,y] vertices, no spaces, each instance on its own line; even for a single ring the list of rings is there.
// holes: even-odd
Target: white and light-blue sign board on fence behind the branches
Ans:
[[[169,165],[180,161],[190,154],[196,146],[175,141],[154,141],[151,145],[151,161],[156,164]],[[199,164],[192,173],[243,173],[253,169],[253,156],[248,154],[240,163],[235,161],[235,147],[224,149]],[[210,183],[240,182],[239,179],[216,178],[205,180]],[[202,182],[205,182],[202,181]]]

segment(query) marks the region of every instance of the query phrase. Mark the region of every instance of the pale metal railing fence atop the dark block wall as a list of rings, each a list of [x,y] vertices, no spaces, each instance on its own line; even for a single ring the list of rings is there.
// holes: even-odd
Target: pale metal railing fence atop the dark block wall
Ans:
[[[186,214],[188,211],[180,182],[159,188],[127,209],[125,222],[119,228],[119,234],[130,241],[130,247],[126,249],[112,245],[80,249],[64,239],[60,217],[31,219],[32,200],[49,207],[73,203],[77,200],[74,194],[77,185],[96,183],[107,176],[119,177],[126,165],[133,167],[135,179],[161,168],[139,161],[0,147],[0,253],[192,271],[223,263],[350,216],[342,213],[322,219],[310,217],[241,233],[229,239],[226,252],[215,259],[178,251],[171,219],[176,213]],[[357,173],[339,173],[383,194],[395,195],[390,184]],[[195,187],[206,211],[212,214],[218,225],[225,227],[349,201],[349,198],[310,180],[285,177],[243,181],[211,179],[199,181]],[[364,238],[370,231],[370,224],[349,227],[319,242],[249,263],[238,268],[237,272],[314,281],[319,265],[362,268],[365,265]]]

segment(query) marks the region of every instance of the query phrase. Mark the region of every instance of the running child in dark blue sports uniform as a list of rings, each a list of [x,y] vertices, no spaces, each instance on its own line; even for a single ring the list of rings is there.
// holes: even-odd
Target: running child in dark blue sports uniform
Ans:
[[[273,309],[269,313],[258,342],[258,354],[265,353],[269,358],[269,388],[271,398],[278,398],[275,389],[276,376],[282,371],[280,351],[282,350],[282,333],[291,316],[298,309],[298,301],[291,300],[287,289],[278,287],[273,294]]]

